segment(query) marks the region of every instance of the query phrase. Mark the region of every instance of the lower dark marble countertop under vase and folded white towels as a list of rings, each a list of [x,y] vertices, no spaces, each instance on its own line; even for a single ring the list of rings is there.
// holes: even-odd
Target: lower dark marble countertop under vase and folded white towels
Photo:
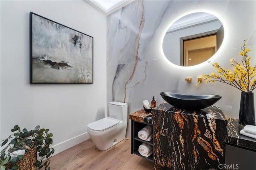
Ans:
[[[241,135],[239,132],[244,126],[238,124],[238,119],[226,118],[228,120],[228,135],[224,142],[256,150],[256,139]]]

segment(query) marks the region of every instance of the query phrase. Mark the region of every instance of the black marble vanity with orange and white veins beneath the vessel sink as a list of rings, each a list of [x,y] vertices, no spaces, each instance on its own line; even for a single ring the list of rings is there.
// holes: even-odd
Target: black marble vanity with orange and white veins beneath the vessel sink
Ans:
[[[155,170],[220,169],[226,145],[256,150],[256,140],[240,135],[237,120],[226,118],[216,106],[186,111],[164,102],[154,107],[152,113],[141,109],[129,118],[154,126]]]

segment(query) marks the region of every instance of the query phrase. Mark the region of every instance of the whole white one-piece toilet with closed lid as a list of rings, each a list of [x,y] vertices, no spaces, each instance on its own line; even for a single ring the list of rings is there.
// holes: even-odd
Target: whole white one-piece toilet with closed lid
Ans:
[[[121,102],[108,103],[109,117],[87,125],[87,132],[98,150],[107,150],[125,138],[128,105]]]

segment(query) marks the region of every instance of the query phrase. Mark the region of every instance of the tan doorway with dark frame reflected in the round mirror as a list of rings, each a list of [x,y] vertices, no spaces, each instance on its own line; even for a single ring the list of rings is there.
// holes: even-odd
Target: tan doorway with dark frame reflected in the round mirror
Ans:
[[[183,41],[183,65],[194,66],[216,53],[216,35]]]

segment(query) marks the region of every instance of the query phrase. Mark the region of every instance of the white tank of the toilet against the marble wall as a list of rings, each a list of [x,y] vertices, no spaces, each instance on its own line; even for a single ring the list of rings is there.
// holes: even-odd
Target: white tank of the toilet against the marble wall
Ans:
[[[122,102],[108,103],[109,117],[118,119],[120,121],[127,121],[128,105]]]

